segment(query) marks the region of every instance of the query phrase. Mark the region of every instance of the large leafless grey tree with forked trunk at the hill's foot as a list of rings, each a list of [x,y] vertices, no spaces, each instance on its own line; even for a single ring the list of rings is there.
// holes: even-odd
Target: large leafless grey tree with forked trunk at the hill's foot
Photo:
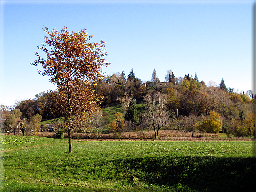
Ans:
[[[146,104],[144,125],[154,130],[155,138],[158,138],[160,128],[168,124],[167,96],[157,91],[153,94],[147,94],[143,98]]]

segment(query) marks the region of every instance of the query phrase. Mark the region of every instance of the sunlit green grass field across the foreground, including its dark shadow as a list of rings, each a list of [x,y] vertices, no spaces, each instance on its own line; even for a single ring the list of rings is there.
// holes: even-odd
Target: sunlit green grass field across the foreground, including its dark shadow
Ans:
[[[254,191],[255,142],[1,136],[1,191]]]

